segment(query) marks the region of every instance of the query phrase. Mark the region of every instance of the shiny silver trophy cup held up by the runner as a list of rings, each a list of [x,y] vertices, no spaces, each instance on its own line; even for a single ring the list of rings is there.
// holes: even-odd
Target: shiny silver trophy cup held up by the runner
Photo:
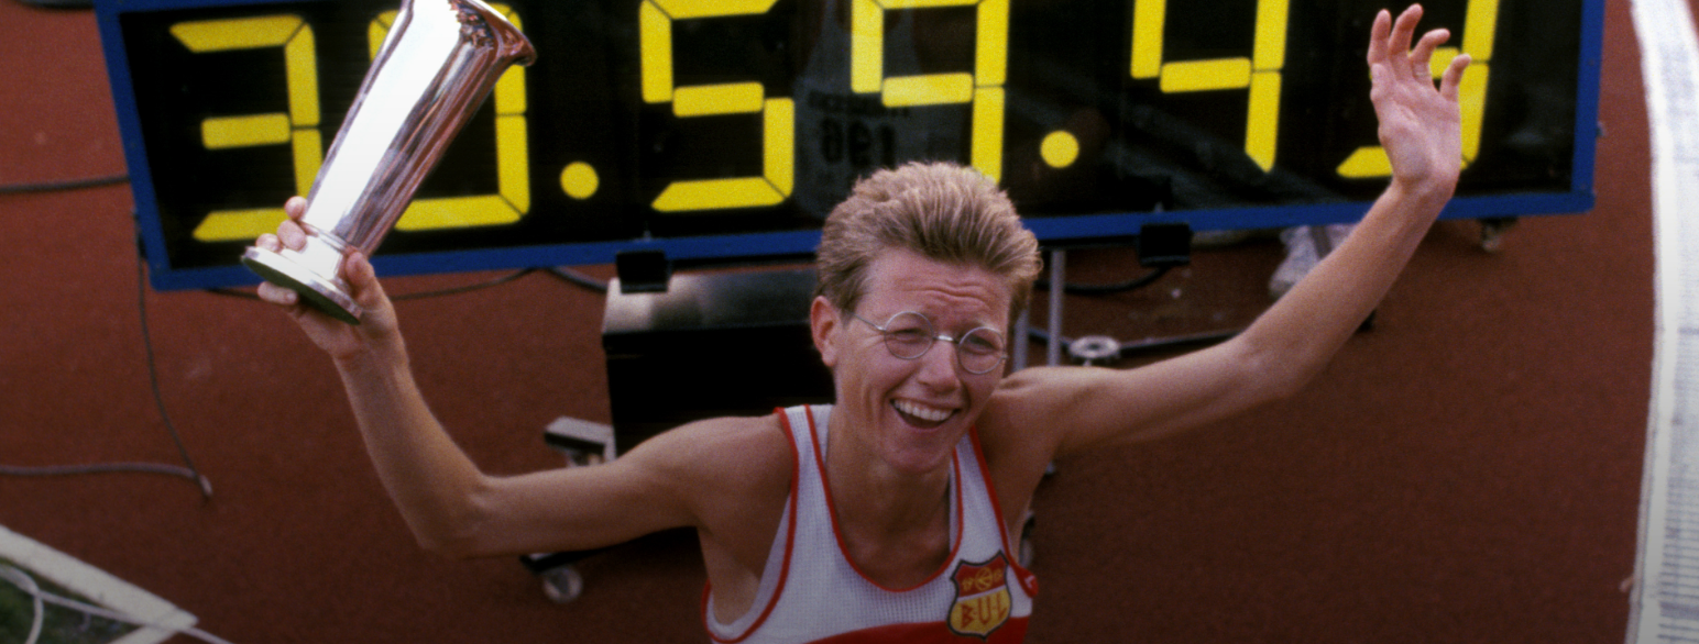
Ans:
[[[403,0],[313,181],[301,217],[306,247],[250,246],[241,263],[331,317],[360,324],[362,310],[338,275],[341,258],[377,249],[501,73],[535,56],[518,27],[479,0]]]

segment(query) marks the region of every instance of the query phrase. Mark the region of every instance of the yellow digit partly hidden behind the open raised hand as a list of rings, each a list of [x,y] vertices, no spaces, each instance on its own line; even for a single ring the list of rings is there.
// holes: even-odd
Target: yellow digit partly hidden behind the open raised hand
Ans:
[[[1487,117],[1487,75],[1492,61],[1492,41],[1499,31],[1499,0],[1470,0],[1463,15],[1463,51],[1470,54],[1470,68],[1458,83],[1458,107],[1463,112],[1463,168],[1475,161],[1482,149],[1482,124]],[[1429,75],[1439,78],[1456,47],[1434,49]],[[1339,164],[1339,176],[1359,180],[1391,176],[1391,161],[1381,146],[1363,146]]]

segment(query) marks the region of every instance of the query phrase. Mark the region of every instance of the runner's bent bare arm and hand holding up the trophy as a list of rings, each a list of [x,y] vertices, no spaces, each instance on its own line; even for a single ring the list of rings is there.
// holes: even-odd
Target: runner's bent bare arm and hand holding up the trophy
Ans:
[[[292,198],[285,210],[299,217],[304,207]],[[291,219],[257,244],[275,251],[302,241]],[[426,407],[370,263],[353,253],[343,276],[365,308],[360,325],[319,314],[287,288],[267,283],[260,297],[284,307],[335,361],[372,464],[421,546],[449,556],[584,549],[698,522],[690,478],[700,471],[691,468],[714,461],[695,461],[669,442],[607,466],[479,471]]]

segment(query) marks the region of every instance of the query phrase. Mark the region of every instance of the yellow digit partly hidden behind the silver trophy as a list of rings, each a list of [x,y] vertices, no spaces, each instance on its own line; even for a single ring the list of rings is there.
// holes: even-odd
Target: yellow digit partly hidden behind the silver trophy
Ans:
[[[511,7],[491,3],[508,22],[520,27]],[[398,12],[384,12],[367,27],[370,56],[384,44],[384,36]],[[496,193],[466,197],[416,198],[396,220],[398,230],[469,229],[513,224],[530,212],[530,151],[525,144],[525,66],[515,64],[496,81]]]

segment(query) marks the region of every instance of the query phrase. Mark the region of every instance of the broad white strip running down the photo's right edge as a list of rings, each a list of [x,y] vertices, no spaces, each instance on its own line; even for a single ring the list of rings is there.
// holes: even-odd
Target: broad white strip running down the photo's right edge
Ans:
[[[1687,0],[1634,0],[1651,130],[1651,400],[1629,644],[1699,642],[1699,41]]]

